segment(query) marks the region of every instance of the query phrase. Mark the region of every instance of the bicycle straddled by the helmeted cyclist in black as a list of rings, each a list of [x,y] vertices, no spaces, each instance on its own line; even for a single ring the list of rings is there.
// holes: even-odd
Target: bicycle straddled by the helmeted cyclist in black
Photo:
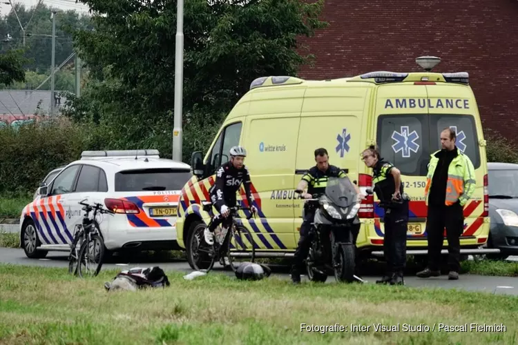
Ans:
[[[203,210],[211,215],[211,221],[209,226],[215,219],[215,215],[212,212],[212,203],[204,204]],[[254,242],[250,231],[239,224],[236,219],[239,219],[238,210],[251,210],[250,208],[244,208],[242,206],[234,206],[229,208],[231,217],[231,226],[226,230],[226,233],[222,229],[222,226],[218,226],[214,230],[214,243],[209,246],[205,242],[203,232],[207,226],[204,223],[196,226],[190,234],[190,250],[189,250],[189,264],[195,270],[202,270],[206,273],[213,268],[214,263],[218,260],[222,263],[222,266],[226,266],[224,259],[229,260],[229,266],[234,272],[236,272],[238,266],[234,266],[236,257],[246,257],[247,262],[253,262],[256,256],[256,242]],[[247,219],[255,217],[254,213],[251,213]],[[233,242],[232,242],[233,239]],[[232,250],[232,247],[234,248]],[[222,255],[222,252],[226,252]]]

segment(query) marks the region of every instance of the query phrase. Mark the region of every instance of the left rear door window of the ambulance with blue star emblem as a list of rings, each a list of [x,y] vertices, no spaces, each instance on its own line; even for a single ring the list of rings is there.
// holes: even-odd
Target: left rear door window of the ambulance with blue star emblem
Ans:
[[[428,115],[380,115],[376,143],[380,155],[401,175],[424,176],[430,161]]]

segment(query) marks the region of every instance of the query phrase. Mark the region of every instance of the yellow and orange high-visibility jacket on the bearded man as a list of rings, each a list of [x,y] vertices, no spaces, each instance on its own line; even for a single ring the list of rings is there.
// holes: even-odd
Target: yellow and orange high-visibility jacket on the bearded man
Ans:
[[[435,168],[437,168],[437,163],[439,162],[439,157],[437,157],[437,153],[439,152],[440,150],[430,156],[431,159],[428,165],[425,186],[425,200],[427,206],[430,187],[432,186],[432,178],[434,177]],[[474,168],[470,158],[457,148],[457,157],[455,157],[450,163],[450,166],[448,166],[445,205],[451,206],[459,200],[461,206],[464,206],[472,196],[476,184],[477,181],[475,180]]]

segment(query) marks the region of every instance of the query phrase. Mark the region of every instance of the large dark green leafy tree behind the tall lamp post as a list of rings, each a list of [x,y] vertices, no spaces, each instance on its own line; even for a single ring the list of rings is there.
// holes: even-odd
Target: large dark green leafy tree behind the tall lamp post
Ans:
[[[75,46],[97,82],[70,116],[112,123],[131,144],[158,132],[171,138],[176,1],[81,2],[95,30],[79,30]],[[186,1],[184,124],[200,123],[198,115],[217,123],[256,77],[296,75],[311,58],[296,53],[296,37],[326,26],[322,8],[323,0]]]

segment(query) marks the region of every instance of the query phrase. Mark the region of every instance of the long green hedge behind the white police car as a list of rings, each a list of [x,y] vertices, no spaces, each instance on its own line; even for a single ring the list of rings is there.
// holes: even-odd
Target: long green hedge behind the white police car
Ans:
[[[183,161],[189,164],[195,150],[207,152],[222,119],[224,115],[198,109],[184,115]],[[161,157],[171,158],[172,142],[173,126],[168,119],[129,130],[113,119],[77,123],[62,117],[18,129],[0,128],[0,194],[32,195],[50,170],[79,159],[84,150],[155,148]]]

